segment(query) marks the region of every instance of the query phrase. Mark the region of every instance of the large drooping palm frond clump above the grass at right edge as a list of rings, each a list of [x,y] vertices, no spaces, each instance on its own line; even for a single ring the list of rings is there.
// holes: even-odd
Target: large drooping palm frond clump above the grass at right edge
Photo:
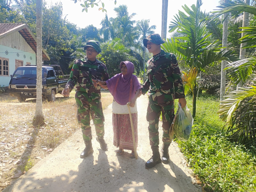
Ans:
[[[227,119],[231,139],[246,146],[256,145],[256,82],[240,91],[230,92],[217,113]]]

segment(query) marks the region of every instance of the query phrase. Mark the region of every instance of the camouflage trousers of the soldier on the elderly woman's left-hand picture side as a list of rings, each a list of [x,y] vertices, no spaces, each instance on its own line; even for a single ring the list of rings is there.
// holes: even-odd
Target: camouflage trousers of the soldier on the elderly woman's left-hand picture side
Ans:
[[[83,139],[92,140],[92,128],[90,126],[90,113],[95,125],[96,135],[104,136],[104,115],[100,98],[93,99],[88,93],[77,91],[75,94],[77,106],[77,120],[81,123]]]

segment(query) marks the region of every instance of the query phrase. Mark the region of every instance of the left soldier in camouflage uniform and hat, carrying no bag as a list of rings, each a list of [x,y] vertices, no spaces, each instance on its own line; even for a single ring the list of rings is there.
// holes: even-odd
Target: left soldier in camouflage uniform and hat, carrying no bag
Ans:
[[[85,143],[85,149],[80,155],[81,158],[93,153],[90,113],[95,125],[96,140],[100,143],[102,150],[108,150],[108,146],[103,139],[105,119],[100,100],[100,85],[94,86],[92,82],[92,79],[108,80],[108,70],[104,63],[96,59],[96,56],[101,52],[99,42],[90,40],[86,43],[84,49],[86,50],[86,57],[75,61],[66,88],[62,92],[64,96],[69,96],[69,92],[76,84],[77,119],[82,124]]]

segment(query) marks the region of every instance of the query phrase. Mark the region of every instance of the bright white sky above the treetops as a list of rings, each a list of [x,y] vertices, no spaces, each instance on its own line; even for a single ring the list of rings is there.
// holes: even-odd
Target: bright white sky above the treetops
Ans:
[[[129,14],[136,13],[133,20],[150,19],[150,26],[156,25],[155,33],[161,35],[161,19],[162,19],[162,0],[117,0],[116,5],[114,0],[101,0],[105,4],[108,18],[116,17],[115,7],[126,4],[128,6]],[[62,2],[63,5],[63,17],[71,23],[77,25],[77,27],[84,28],[88,25],[93,25],[97,28],[101,28],[100,22],[105,17],[106,12],[99,11],[99,7],[94,6],[89,8],[88,12],[82,12],[81,2],[78,0],[75,4],[71,0],[46,0],[47,4],[55,4]],[[82,0],[83,2],[83,0]],[[203,0],[201,7],[202,11],[210,12],[217,9],[219,0]],[[186,4],[190,7],[192,4],[196,4],[196,0],[169,0],[168,2],[168,17],[167,17],[167,30],[170,22],[174,19],[174,15],[178,13],[178,10],[183,11],[182,6]],[[67,15],[68,14],[68,15]],[[167,31],[167,37],[168,37]]]

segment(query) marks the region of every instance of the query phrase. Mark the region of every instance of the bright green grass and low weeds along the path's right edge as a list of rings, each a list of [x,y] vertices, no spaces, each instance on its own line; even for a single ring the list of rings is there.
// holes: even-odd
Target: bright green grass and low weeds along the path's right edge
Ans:
[[[192,97],[186,99],[192,111]],[[255,192],[255,150],[228,140],[222,132],[225,123],[216,113],[218,106],[215,97],[203,94],[198,98],[190,138],[187,142],[178,141],[179,147],[206,191]]]

